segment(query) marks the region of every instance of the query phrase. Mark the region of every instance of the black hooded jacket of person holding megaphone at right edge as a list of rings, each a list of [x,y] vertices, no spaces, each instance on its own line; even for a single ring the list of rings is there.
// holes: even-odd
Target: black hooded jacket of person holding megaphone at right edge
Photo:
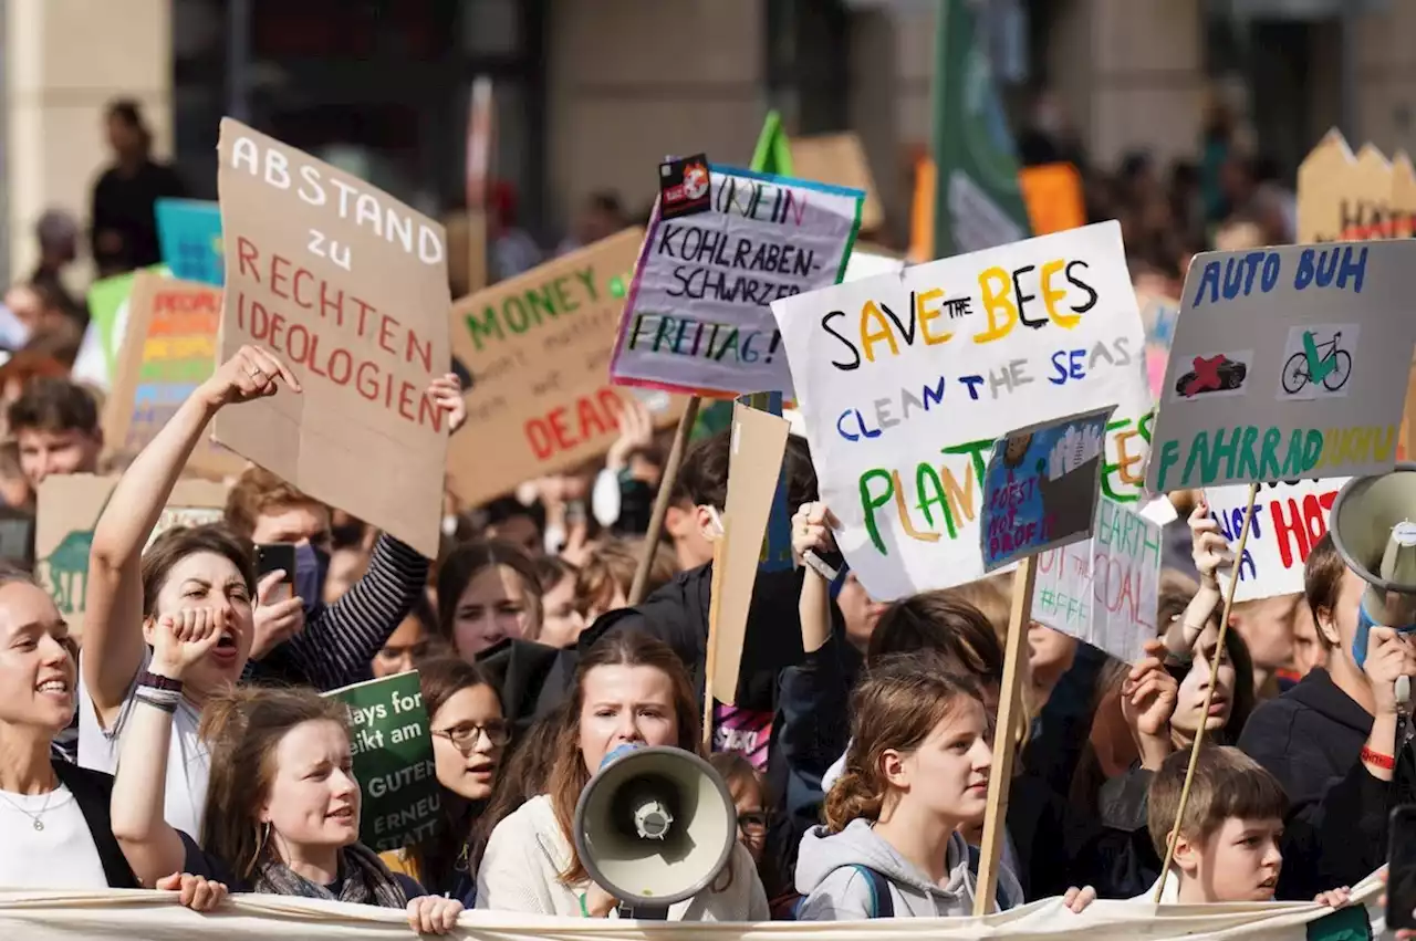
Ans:
[[[1290,802],[1279,899],[1355,886],[1385,862],[1388,814],[1413,798],[1416,764],[1403,749],[1392,783],[1374,778],[1361,760],[1371,733],[1372,716],[1325,669],[1249,717],[1239,747],[1279,778]]]

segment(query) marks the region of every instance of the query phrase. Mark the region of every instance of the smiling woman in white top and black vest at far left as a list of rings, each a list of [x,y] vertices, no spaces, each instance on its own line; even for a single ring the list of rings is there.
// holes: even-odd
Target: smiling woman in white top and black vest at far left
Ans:
[[[76,644],[54,600],[0,565],[0,886],[140,889],[109,824],[113,778],[51,758],[74,715]],[[154,876],[183,904],[208,911],[227,887],[174,867]]]

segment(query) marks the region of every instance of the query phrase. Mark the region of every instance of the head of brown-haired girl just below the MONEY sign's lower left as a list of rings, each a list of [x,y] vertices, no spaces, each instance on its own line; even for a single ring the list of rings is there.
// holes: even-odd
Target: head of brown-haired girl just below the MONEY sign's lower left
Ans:
[[[510,542],[469,542],[438,569],[438,630],[463,659],[507,638],[541,635],[541,579]]]

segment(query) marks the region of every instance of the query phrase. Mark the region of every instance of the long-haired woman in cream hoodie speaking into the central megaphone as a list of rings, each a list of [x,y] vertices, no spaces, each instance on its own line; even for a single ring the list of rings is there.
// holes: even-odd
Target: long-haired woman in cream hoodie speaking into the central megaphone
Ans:
[[[491,832],[477,869],[477,907],[585,918],[617,916],[623,900],[590,877],[590,869],[606,869],[609,860],[582,859],[578,849],[578,843],[588,846],[590,841],[578,841],[576,831],[600,825],[589,819],[589,812],[576,819],[582,792],[607,756],[613,768],[619,750],[667,746],[698,756],[698,705],[673,648],[634,631],[602,637],[576,666],[547,794],[527,801]],[[593,805],[595,801],[588,802]],[[698,812],[712,811],[698,801]],[[731,818],[731,798],[724,814]],[[726,865],[697,894],[670,904],[664,917],[671,921],[770,917],[756,866],[736,842],[736,824],[725,832],[731,842],[731,849],[725,849]],[[649,849],[636,855],[646,869],[657,866],[661,856]],[[646,873],[644,880],[661,874]]]

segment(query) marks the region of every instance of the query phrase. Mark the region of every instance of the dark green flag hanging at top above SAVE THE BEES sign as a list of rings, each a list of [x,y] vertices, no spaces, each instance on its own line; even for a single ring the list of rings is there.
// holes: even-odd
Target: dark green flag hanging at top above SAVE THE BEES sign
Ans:
[[[969,0],[940,0],[935,31],[935,258],[1032,233],[1012,132]]]

